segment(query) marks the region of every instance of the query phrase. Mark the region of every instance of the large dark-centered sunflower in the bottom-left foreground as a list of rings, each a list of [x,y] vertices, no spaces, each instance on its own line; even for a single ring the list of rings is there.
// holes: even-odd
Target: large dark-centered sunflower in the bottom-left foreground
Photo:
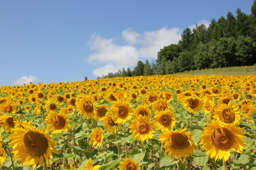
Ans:
[[[26,124],[24,128],[14,128],[14,134],[9,135],[9,145],[13,145],[13,160],[19,159],[18,163],[27,166],[33,165],[33,168],[41,166],[44,161],[50,166],[49,159],[53,160],[52,152],[59,154],[54,146],[57,144],[51,139],[51,135],[37,130],[33,126]]]

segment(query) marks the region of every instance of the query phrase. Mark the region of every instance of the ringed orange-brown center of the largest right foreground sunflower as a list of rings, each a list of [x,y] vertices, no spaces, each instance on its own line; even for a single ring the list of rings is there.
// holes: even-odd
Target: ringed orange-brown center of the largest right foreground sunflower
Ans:
[[[219,149],[226,149],[233,145],[234,143],[234,134],[224,127],[218,127],[213,130],[211,134],[211,141]]]

